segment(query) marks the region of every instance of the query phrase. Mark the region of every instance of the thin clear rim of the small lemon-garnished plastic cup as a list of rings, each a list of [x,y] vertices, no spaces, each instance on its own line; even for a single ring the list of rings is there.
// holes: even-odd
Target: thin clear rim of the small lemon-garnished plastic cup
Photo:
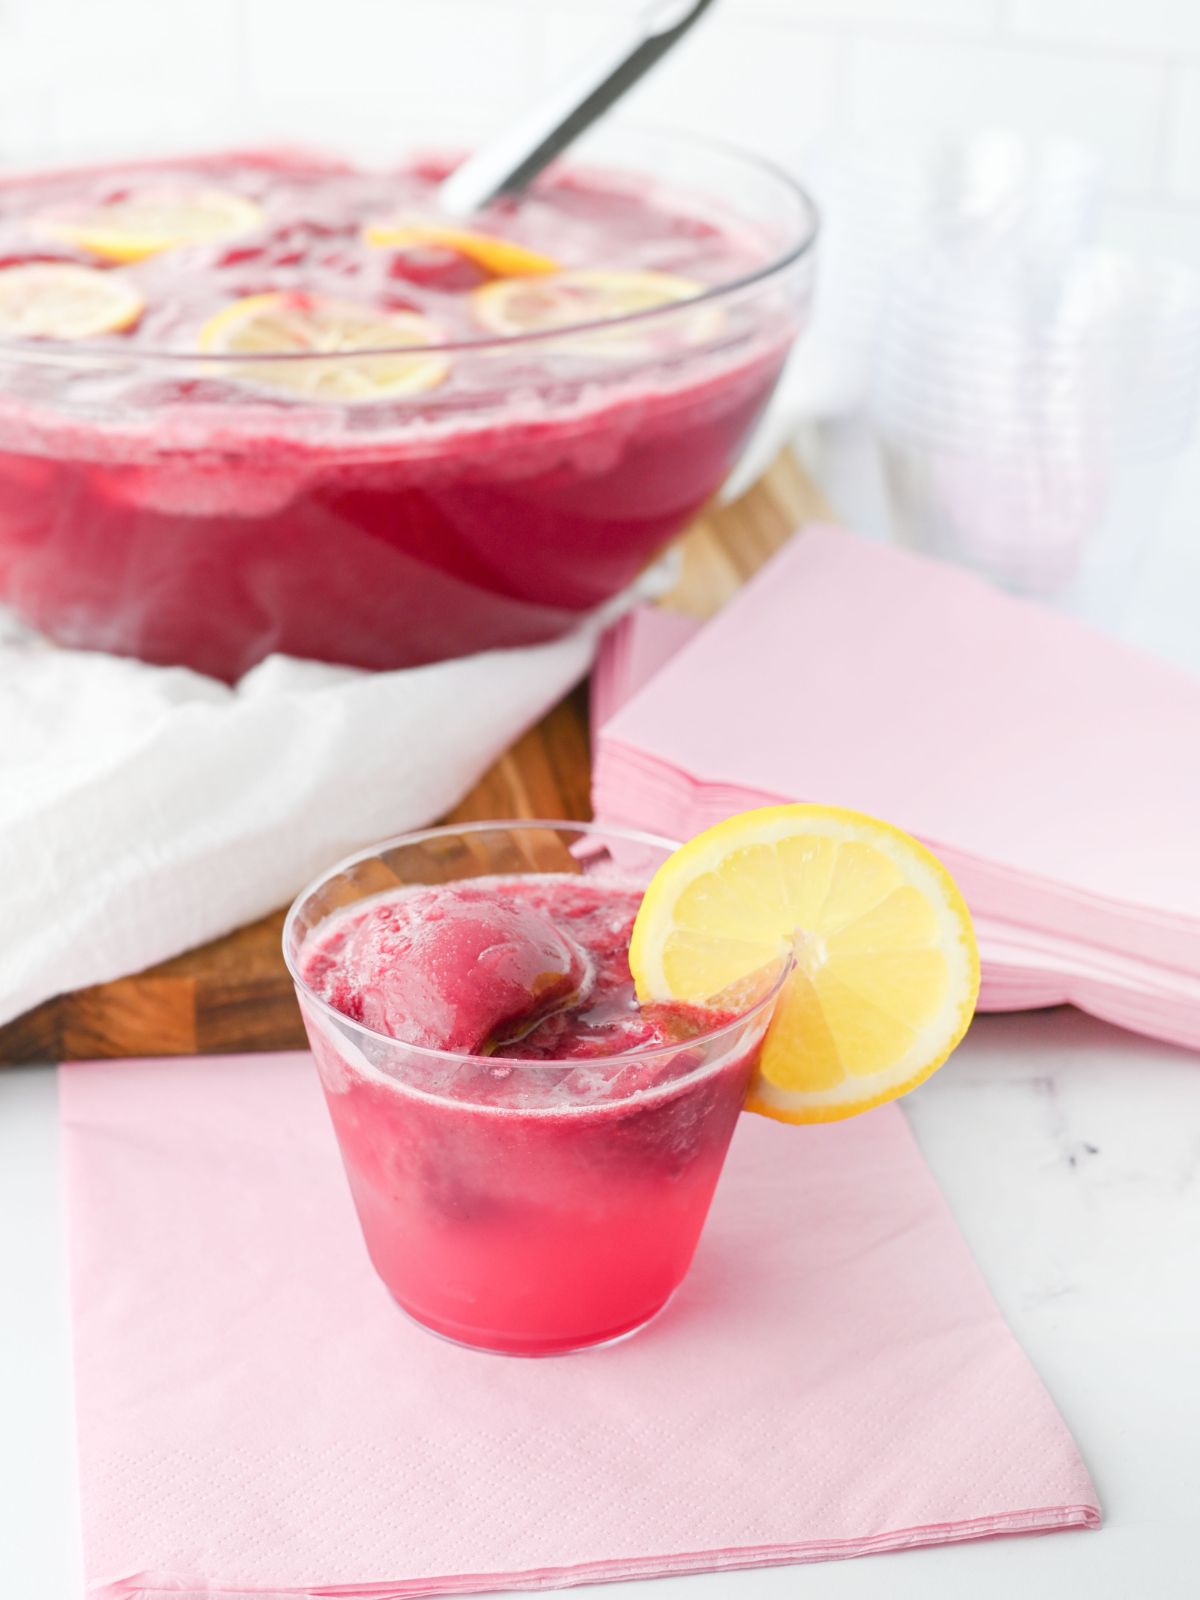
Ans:
[[[349,1029],[350,1032],[360,1035],[362,1038],[373,1040],[376,1043],[389,1045],[395,1050],[405,1051],[405,1054],[416,1054],[427,1061],[435,1061],[442,1064],[464,1066],[467,1062],[475,1066],[494,1066],[502,1061],[506,1067],[517,1069],[539,1069],[539,1070],[578,1070],[579,1067],[592,1066],[597,1062],[630,1062],[630,1061],[659,1061],[664,1056],[677,1056],[683,1050],[704,1048],[722,1042],[736,1029],[742,1027],[747,1021],[758,1018],[763,1011],[774,1008],[779,994],[787,982],[792,971],[792,963],[784,962],[779,976],[770,986],[766,994],[760,995],[754,1005],[739,1011],[730,1021],[722,1022],[718,1027],[706,1029],[702,1034],[693,1034],[686,1040],[678,1040],[667,1045],[650,1045],[645,1050],[629,1050],[614,1053],[611,1056],[600,1058],[581,1058],[581,1056],[563,1056],[563,1058],[539,1058],[536,1061],[526,1061],[514,1056],[478,1056],[470,1051],[461,1050],[437,1050],[430,1045],[410,1045],[408,1040],[395,1038],[392,1034],[381,1034],[373,1027],[366,1027],[363,1022],[357,1022],[354,1018],[346,1016],[336,1006],[323,1000],[301,976],[296,963],[291,958],[291,946],[296,944],[299,952],[299,942],[294,939],[294,928],[299,920],[299,912],[309,896],[315,894],[325,883],[355,867],[360,861],[370,861],[373,856],[382,854],[386,850],[394,850],[400,845],[418,845],[429,838],[446,838],[450,835],[461,837],[462,834],[488,834],[498,829],[571,829],[579,834],[592,834],[608,838],[619,838],[635,845],[651,845],[658,850],[666,850],[669,854],[680,848],[677,840],[666,838],[661,834],[651,834],[646,829],[622,827],[619,824],[608,822],[574,822],[568,818],[494,818],[482,822],[443,822],[437,827],[421,827],[411,829],[405,834],[394,834],[389,838],[382,838],[374,845],[368,845],[365,850],[357,850],[349,856],[342,856],[333,866],[318,872],[304,888],[296,894],[291,906],[288,907],[288,915],[283,920],[283,963],[288,968],[293,984],[296,986],[298,995],[302,995],[306,1005],[315,1006],[325,1018],[328,1018],[336,1027]],[[467,880],[469,882],[469,880]],[[370,899],[371,896],[363,896]],[[691,1077],[691,1074],[686,1074]],[[678,1080],[680,1083],[685,1078]]]

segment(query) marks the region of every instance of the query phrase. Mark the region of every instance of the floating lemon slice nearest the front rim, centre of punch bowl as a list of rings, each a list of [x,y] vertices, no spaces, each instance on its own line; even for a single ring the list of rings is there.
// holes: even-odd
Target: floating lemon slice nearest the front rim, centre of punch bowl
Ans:
[[[443,355],[411,346],[438,333],[418,312],[384,312],[317,294],[250,294],[200,330],[205,355],[312,355],[312,362],[245,362],[238,378],[315,400],[389,400],[434,389]],[[371,354],[376,352],[376,354]],[[344,360],[331,360],[341,357]]]

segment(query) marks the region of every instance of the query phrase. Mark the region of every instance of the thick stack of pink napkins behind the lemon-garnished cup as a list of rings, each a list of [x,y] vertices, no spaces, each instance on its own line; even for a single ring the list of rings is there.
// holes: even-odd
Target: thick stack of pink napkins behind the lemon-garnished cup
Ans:
[[[797,534],[712,622],[653,608],[594,680],[598,818],[686,838],[870,811],[976,918],[986,1010],[1200,1046],[1200,682],[938,562]]]

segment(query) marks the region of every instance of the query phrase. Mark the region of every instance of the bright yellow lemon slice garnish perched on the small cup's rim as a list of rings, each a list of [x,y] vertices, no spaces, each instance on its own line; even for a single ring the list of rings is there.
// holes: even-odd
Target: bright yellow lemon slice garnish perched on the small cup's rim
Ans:
[[[966,1032],[979,955],[963,898],[915,838],[858,811],[744,811],[677,850],[634,923],[642,1000],[720,1003],[794,958],[749,1109],[834,1122],[894,1099]]]

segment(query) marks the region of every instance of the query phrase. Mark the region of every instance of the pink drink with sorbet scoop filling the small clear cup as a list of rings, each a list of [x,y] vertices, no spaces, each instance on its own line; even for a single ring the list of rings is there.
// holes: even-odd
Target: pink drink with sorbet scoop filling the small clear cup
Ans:
[[[691,1262],[774,989],[640,1006],[627,947],[670,846],[434,829],[334,869],[285,950],[376,1272],[445,1338],[632,1333]]]

